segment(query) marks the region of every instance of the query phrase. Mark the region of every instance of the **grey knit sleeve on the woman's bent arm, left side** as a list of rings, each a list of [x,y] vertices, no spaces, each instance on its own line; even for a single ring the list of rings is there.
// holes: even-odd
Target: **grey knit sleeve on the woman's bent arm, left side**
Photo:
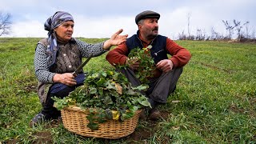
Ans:
[[[38,81],[43,83],[54,83],[54,74],[50,72],[50,65],[47,61],[46,47],[38,43],[34,54],[34,70]]]

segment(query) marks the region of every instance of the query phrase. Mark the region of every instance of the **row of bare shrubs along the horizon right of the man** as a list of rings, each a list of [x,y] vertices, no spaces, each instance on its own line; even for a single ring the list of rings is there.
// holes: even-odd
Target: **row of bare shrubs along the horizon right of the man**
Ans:
[[[232,22],[222,20],[226,27],[226,35],[218,33],[214,28],[211,28],[210,34],[206,34],[204,30],[196,30],[196,34],[190,34],[190,22],[188,22],[188,32],[184,30],[178,34],[178,40],[193,40],[193,41],[233,41],[233,42],[256,42],[256,31],[250,30],[248,24],[250,22],[240,22],[233,20]]]

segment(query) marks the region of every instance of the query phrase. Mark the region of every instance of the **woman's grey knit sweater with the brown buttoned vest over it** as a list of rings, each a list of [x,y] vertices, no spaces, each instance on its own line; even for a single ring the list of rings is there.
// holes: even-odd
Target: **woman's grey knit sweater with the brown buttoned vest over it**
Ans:
[[[52,59],[46,53],[47,39],[44,38],[38,42],[34,54],[34,69],[39,82],[53,83],[54,74],[63,74],[73,72],[82,63],[82,58],[88,58],[90,54],[93,57],[106,52],[103,49],[104,42],[88,44],[76,38],[71,38],[65,45],[58,43],[58,55],[56,62],[50,66]]]

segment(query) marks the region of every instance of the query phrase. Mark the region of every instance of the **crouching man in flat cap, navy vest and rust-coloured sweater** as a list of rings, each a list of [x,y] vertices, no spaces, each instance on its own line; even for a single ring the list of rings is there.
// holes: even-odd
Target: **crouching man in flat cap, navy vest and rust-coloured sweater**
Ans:
[[[160,14],[146,10],[138,14],[135,22],[138,25],[137,34],[127,38],[127,41],[117,46],[114,50],[106,55],[106,60],[111,65],[128,65],[129,68],[121,70],[126,78],[133,86],[140,85],[138,78],[135,78],[134,70],[139,66],[139,62],[130,62],[127,55],[130,50],[134,48],[146,48],[152,46],[150,49],[151,57],[154,58],[156,70],[150,77],[149,89],[146,91],[146,96],[152,109],[149,111],[150,119],[158,119],[160,112],[156,108],[159,104],[166,103],[168,96],[176,89],[178,78],[182,74],[182,66],[185,66],[191,58],[188,50],[170,38],[158,34],[158,19]],[[171,58],[167,57],[171,55]]]

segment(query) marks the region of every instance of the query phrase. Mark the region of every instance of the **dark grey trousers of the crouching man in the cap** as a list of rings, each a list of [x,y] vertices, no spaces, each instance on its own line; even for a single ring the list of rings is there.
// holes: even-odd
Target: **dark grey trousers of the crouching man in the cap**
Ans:
[[[146,96],[154,100],[154,102],[166,103],[168,96],[176,89],[178,78],[182,74],[182,70],[182,67],[178,67],[167,73],[162,73],[159,78],[150,79],[150,87],[145,93]],[[141,85],[141,82],[135,77],[134,71],[130,68],[118,69],[118,71],[126,75],[126,78],[132,86]]]

